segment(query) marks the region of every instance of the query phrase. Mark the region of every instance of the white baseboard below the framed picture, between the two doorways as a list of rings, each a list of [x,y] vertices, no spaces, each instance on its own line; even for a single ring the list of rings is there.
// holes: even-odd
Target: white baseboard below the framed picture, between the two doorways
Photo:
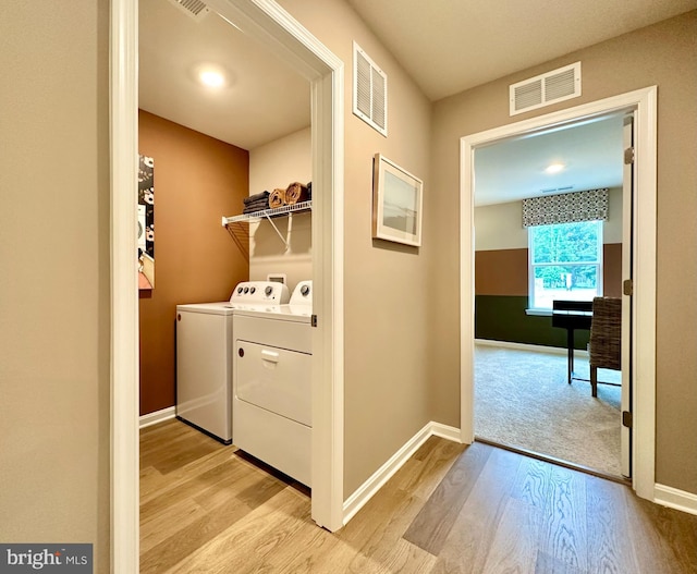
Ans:
[[[406,461],[419,449],[430,437],[437,436],[448,440],[460,442],[460,429],[441,425],[440,423],[428,423],[421,430],[412,437],[406,444],[396,451],[388,462],[378,468],[358,489],[344,501],[344,524],[380,490],[384,484],[392,478]]]

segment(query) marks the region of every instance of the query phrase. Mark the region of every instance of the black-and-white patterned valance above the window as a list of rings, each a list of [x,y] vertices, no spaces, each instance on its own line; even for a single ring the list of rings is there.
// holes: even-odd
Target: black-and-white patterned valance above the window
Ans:
[[[608,188],[523,199],[523,227],[607,221]]]

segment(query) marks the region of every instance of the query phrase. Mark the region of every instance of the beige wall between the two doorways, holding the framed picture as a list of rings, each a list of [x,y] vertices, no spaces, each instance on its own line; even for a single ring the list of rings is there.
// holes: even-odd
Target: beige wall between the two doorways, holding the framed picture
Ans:
[[[436,245],[371,240],[372,156],[424,180],[432,209],[430,103],[342,0],[280,2],[344,61],[345,84],[345,480],[350,496],[432,419],[428,356],[429,274]],[[353,115],[353,41],[387,73],[389,137]]]

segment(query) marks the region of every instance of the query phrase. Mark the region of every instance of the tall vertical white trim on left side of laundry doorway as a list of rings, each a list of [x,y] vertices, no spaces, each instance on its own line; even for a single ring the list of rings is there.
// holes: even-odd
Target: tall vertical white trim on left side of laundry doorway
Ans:
[[[111,572],[138,572],[137,0],[111,2]]]

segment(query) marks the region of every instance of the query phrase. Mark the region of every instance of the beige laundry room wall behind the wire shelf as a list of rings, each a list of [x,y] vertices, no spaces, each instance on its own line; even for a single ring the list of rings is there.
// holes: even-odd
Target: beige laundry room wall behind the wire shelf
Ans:
[[[301,130],[276,142],[249,150],[249,195],[285,188],[293,182],[313,179],[310,129]],[[249,279],[266,280],[268,273],[285,273],[291,292],[313,278],[311,215],[293,213],[274,218],[273,223],[288,242],[278,236],[269,221],[249,225]]]

